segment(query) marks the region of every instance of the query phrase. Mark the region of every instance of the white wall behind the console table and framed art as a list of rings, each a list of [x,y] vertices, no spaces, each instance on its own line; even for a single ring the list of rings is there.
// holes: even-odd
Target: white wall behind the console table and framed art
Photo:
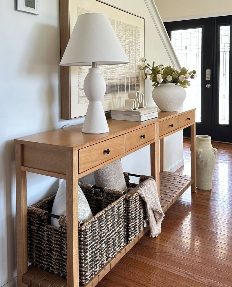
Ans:
[[[70,123],[60,120],[59,1],[41,0],[39,16],[17,11],[14,2],[0,1],[0,286],[16,276],[14,139]],[[108,2],[146,17],[146,56],[169,64],[145,3]],[[146,94],[151,91],[146,81]],[[166,157],[167,167],[182,159],[181,133],[168,141],[170,148],[176,144],[179,149],[175,157]],[[125,157],[124,170],[150,174],[149,156],[148,146]],[[55,193],[59,185],[55,178],[30,173],[27,182],[28,205]]]

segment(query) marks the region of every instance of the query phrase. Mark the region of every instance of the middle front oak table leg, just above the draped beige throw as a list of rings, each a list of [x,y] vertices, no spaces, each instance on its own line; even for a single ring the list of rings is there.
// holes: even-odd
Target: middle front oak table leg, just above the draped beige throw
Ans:
[[[151,175],[155,178],[160,197],[159,123],[155,123],[155,142],[151,144]]]

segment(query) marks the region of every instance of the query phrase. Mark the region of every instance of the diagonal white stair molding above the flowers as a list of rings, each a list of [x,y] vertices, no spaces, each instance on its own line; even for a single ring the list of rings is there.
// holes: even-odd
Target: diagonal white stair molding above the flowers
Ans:
[[[168,56],[171,59],[171,62],[173,64],[173,67],[177,67],[177,69],[181,69],[180,62],[177,58],[177,55],[173,49],[172,43],[168,37],[168,33],[164,27],[164,23],[162,21],[162,18],[160,17],[160,13],[155,5],[154,0],[144,0],[146,3],[146,6],[148,8],[148,11],[151,14],[151,17],[153,19],[153,22],[160,34],[160,38],[164,44],[164,47],[168,53]]]

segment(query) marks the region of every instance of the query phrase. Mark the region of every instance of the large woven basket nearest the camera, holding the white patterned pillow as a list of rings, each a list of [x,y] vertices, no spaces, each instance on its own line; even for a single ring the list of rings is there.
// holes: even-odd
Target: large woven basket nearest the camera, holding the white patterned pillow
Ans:
[[[79,183],[93,218],[79,221],[79,282],[86,284],[126,243],[125,192],[94,189]],[[66,216],[59,228],[45,215],[52,211],[55,195],[28,207],[28,259],[32,265],[67,277]]]

